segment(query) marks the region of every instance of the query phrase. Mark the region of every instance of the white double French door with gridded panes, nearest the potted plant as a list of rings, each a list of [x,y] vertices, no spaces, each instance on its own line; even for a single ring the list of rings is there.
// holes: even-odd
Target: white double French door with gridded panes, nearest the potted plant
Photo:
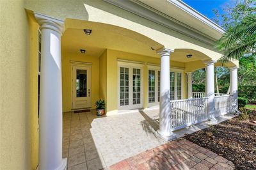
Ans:
[[[118,109],[143,107],[142,67],[118,66]]]

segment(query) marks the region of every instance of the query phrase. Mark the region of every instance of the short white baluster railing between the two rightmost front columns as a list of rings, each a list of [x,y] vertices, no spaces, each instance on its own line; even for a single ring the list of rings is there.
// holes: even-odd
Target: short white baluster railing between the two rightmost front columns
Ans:
[[[220,95],[214,97],[215,103],[215,118],[223,116],[229,112],[233,111],[232,108],[232,95]]]

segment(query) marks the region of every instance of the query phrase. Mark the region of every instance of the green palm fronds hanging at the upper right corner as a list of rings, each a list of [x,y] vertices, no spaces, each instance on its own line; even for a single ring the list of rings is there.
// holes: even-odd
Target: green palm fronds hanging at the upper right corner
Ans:
[[[256,69],[256,7],[245,4],[245,8],[241,8],[238,5],[232,11],[231,22],[228,22],[227,31],[218,40],[216,47],[224,54],[221,61],[237,59],[241,66]],[[243,11],[237,12],[237,8]]]

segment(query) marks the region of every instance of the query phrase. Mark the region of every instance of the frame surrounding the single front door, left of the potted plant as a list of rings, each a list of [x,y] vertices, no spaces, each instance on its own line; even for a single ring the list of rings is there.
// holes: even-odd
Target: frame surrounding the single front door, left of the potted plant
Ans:
[[[92,63],[86,63],[86,62],[80,62],[80,61],[70,61],[70,66],[71,66],[71,111],[75,111],[75,110],[81,110],[81,109],[89,109],[92,108]],[[83,66],[83,67],[88,67],[90,68],[90,105],[89,107],[83,107],[83,108],[78,108],[78,109],[74,109],[73,108],[73,66]]]

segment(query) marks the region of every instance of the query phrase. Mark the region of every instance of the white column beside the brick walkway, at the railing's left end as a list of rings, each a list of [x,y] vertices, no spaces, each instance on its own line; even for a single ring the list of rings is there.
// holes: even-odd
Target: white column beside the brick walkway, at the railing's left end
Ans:
[[[171,105],[170,105],[170,54],[173,50],[161,49],[157,53],[161,55],[160,75],[160,105],[159,105],[159,130],[156,134],[170,141],[175,138],[171,131]]]

